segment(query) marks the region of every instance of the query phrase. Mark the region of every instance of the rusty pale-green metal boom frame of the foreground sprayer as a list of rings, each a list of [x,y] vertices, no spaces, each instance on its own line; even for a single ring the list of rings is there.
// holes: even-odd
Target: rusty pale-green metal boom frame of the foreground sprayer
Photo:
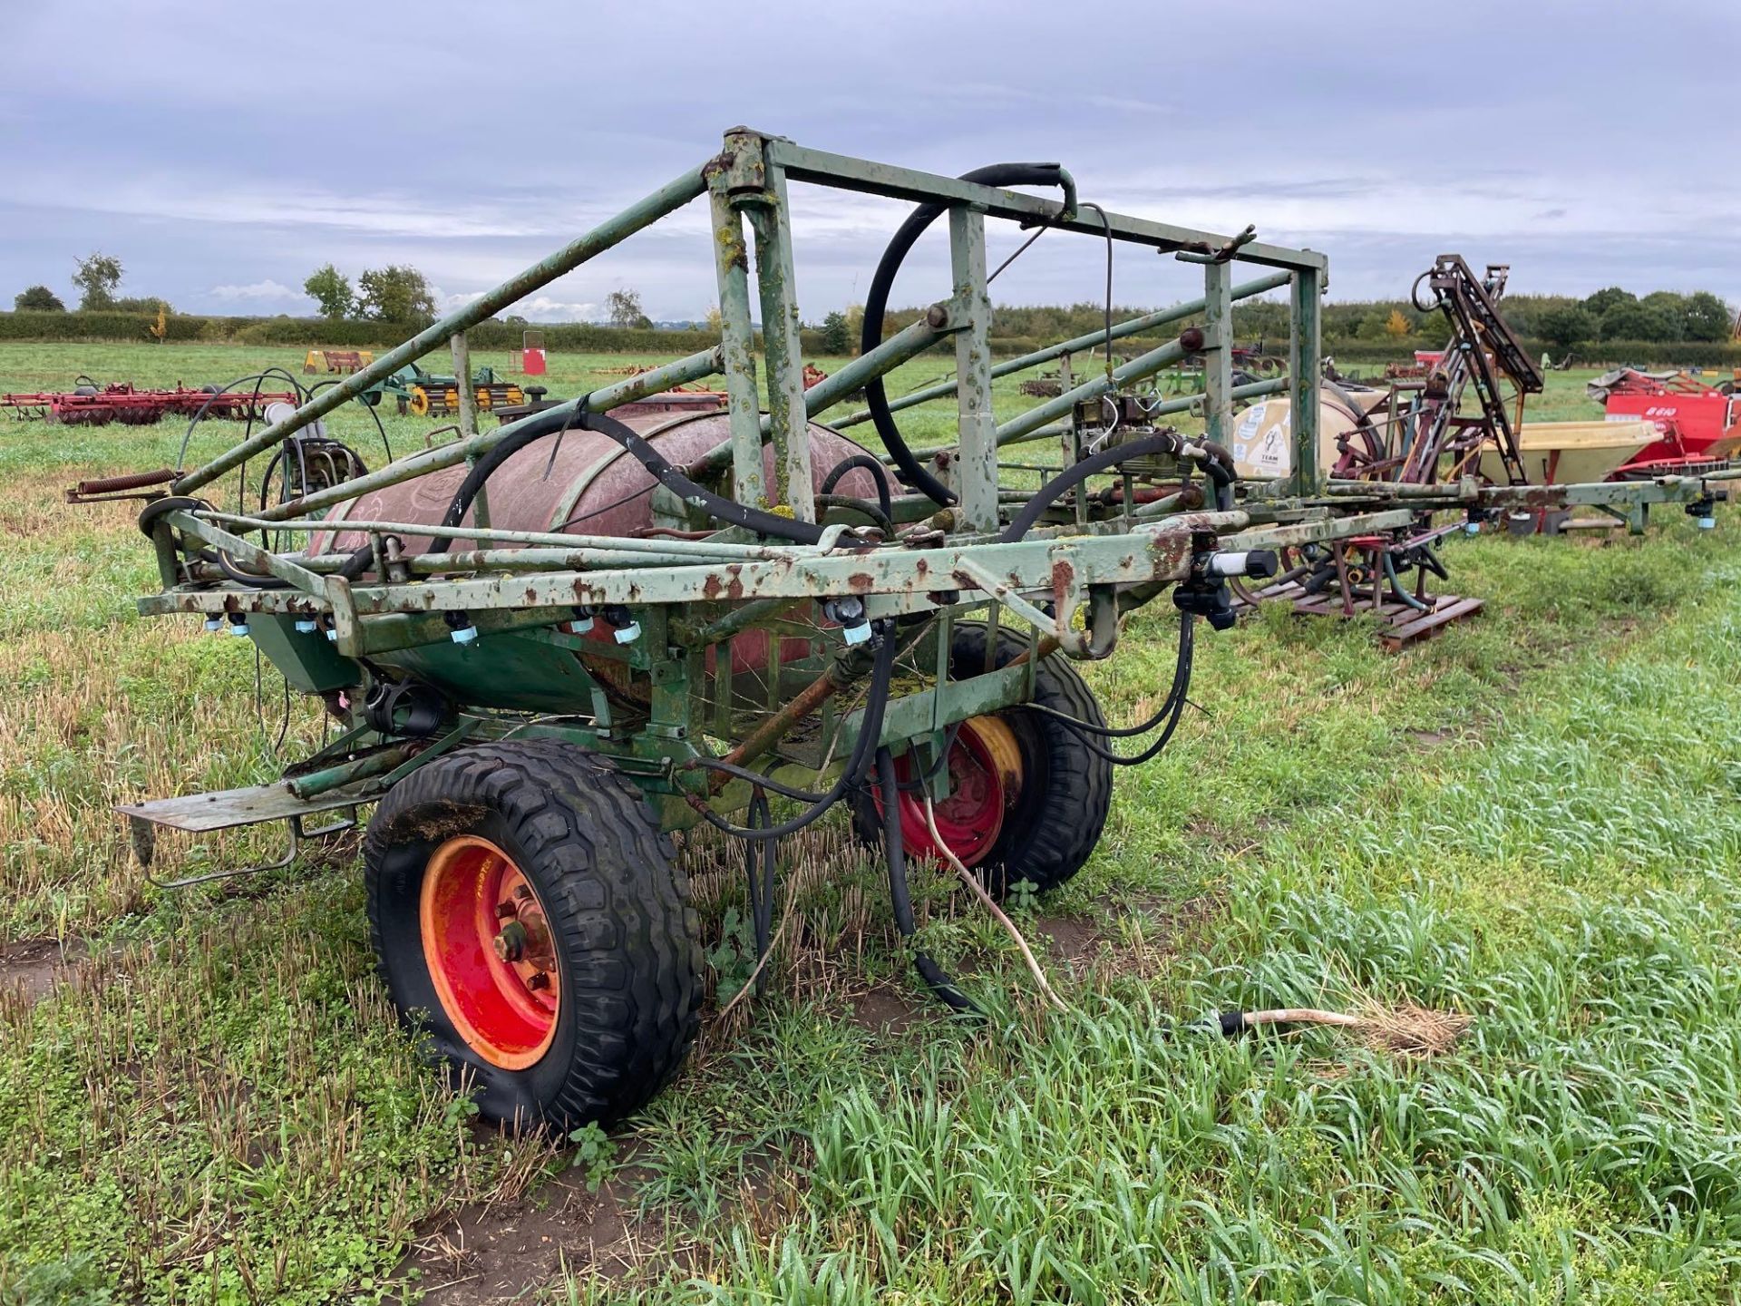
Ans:
[[[336,387],[320,392],[289,418],[239,442],[202,467],[183,472],[171,493],[190,496],[218,477],[242,467],[251,456],[280,444],[296,430],[333,411],[374,385],[393,369],[453,341],[463,348],[465,331],[500,313],[519,298],[548,284],[639,230],[660,221],[696,199],[707,199],[709,233],[721,308],[717,347],[663,367],[601,387],[554,409],[566,416],[604,413],[703,376],[724,376],[729,439],[696,460],[693,477],[731,477],[740,503],[817,521],[811,495],[808,423],[844,402],[867,381],[884,376],[933,345],[952,340],[956,380],[928,387],[897,406],[931,399],[956,401],[958,439],[951,446],[954,489],[959,505],[935,514],[926,531],[907,540],[879,540],[830,526],[815,545],[763,543],[742,531],[717,531],[705,540],[625,540],[566,533],[491,531],[468,526],[449,531],[472,540],[475,549],[458,554],[393,557],[385,566],[390,535],[439,535],[440,528],[413,522],[352,521],[350,505],[364,493],[400,484],[435,470],[475,463],[501,441],[524,430],[522,418],[489,432],[418,451],[388,467],[327,486],[301,498],[261,508],[252,517],[204,508],[195,502],[158,514],[153,543],[164,589],[139,599],[146,615],[258,613],[261,620],[298,622],[298,637],[331,641],[331,653],[352,662],[404,656],[418,650],[447,648],[451,615],[463,615],[475,644],[465,656],[487,658],[498,639],[543,641],[575,651],[578,641],[562,630],[576,608],[620,604],[637,615],[644,636],[622,648],[595,648],[594,656],[613,658],[629,674],[651,686],[646,721],[613,721],[604,695],[594,690],[590,714],[561,723],[507,721],[491,714],[467,714],[467,737],[491,738],[533,730],[559,733],[611,752],[651,796],[695,798],[712,791],[716,803],[729,804],[731,785],[698,785],[696,775],[679,770],[702,747],[703,733],[735,731],[729,686],[724,709],[707,702],[700,669],[710,648],[716,656],[729,639],[750,629],[773,629],[790,622],[794,606],[837,597],[862,599],[867,618],[930,616],[931,637],[947,651],[949,627],[963,613],[985,609],[992,622],[1015,618],[1032,630],[1034,648],[1062,648],[1071,656],[1106,656],[1118,636],[1118,609],[1109,603],[1114,587],[1142,587],[1160,594],[1184,582],[1203,555],[1236,540],[1240,549],[1281,547],[1301,540],[1332,540],[1370,531],[1405,529],[1419,512],[1438,507],[1490,505],[1501,500],[1487,489],[1440,489],[1440,500],[1417,500],[1403,488],[1320,484],[1316,467],[1320,298],[1327,279],[1323,254],[1285,249],[1255,240],[1252,228],[1240,233],[1201,232],[1151,218],[1100,212],[1078,214],[1074,179],[1062,178],[1064,199],[984,186],[956,178],[876,164],[794,141],[735,127],[724,134],[723,150],[684,171],[674,181],[630,205],[548,258],[449,313],[395,350],[380,355]],[[815,185],[883,195],[897,200],[942,204],[949,214],[952,286],[921,317],[886,338],[877,348],[853,359],[822,385],[803,385],[799,300],[792,254],[792,185]],[[989,350],[991,300],[985,272],[985,223],[1013,221],[1048,225],[1060,232],[1125,242],[1175,256],[1201,268],[1203,296],[1168,310],[1146,313],[1109,331],[1059,341],[1018,359],[994,364]],[[1262,268],[1262,275],[1234,280],[1234,263]],[[761,317],[759,348],[752,312]],[[1290,373],[1280,380],[1245,387],[1231,383],[1231,310],[1238,300],[1285,289],[1290,298]],[[998,423],[992,416],[994,378],[1050,359],[1072,348],[1109,343],[1201,315],[1201,327],[1177,340],[1153,345],[1135,359],[1069,387],[1029,411]],[[1233,404],[1266,394],[1287,394],[1295,441],[1294,472],[1287,481],[1248,496],[1248,507],[1220,512],[1187,512],[1184,496],[1151,505],[1147,515],[1119,514],[1088,521],[1079,503],[1064,519],[1041,524],[1025,538],[999,542],[1010,515],[999,486],[999,449],[1024,441],[1048,439],[1059,421],[1078,404],[1123,387],[1137,385],[1186,357],[1205,357],[1205,394],[1156,402],[1151,418],[1194,413],[1207,435],[1217,439],[1231,428]],[[764,376],[759,376],[764,369]],[[768,406],[763,411],[763,383]],[[548,414],[543,414],[548,416]],[[843,416],[851,427],[864,414]],[[773,482],[764,482],[763,448],[775,451]],[[1198,451],[1201,453],[1201,449]],[[1562,498],[1579,488],[1549,488]],[[1576,502],[1640,503],[1640,496],[1666,500],[1691,496],[1684,486],[1657,484],[1617,498],[1590,496]],[[912,505],[902,505],[904,508]],[[1226,507],[1226,505],[1222,505]],[[926,512],[928,508],[921,508]],[[331,515],[322,515],[331,512]],[[346,580],[334,559],[315,550],[273,552],[245,538],[252,531],[313,536],[345,519],[346,531],[366,535],[381,566],[374,580]],[[911,519],[911,517],[909,517]],[[272,538],[270,535],[266,538]],[[270,573],[284,589],[252,589],[212,576],[185,542],[223,550],[251,569]],[[1074,615],[1086,615],[1078,630]],[[782,676],[776,663],[770,677],[768,710],[752,721],[752,733],[738,745],[743,756],[763,757],[770,770],[789,764],[780,752],[780,731],[796,721],[796,705],[811,707],[811,690],[846,665],[851,650],[837,627],[817,609],[806,622],[811,656],[801,663],[810,688],[782,705]],[[324,644],[322,644],[324,648]],[[938,653],[942,656],[942,653]],[[890,705],[883,719],[883,742],[905,745],[933,738],[968,714],[1024,702],[1032,693],[1032,667],[1022,674],[987,669],[966,681],[938,681]],[[930,658],[931,665],[942,665]],[[729,658],[728,658],[729,665]],[[717,691],[716,691],[717,698]],[[858,728],[853,714],[825,707],[827,693],[815,695],[823,730],[836,742]],[[400,763],[416,764],[414,756]],[[399,771],[395,771],[397,775]],[[380,785],[381,777],[359,775],[357,784]],[[693,813],[665,803],[667,824],[686,824]]]

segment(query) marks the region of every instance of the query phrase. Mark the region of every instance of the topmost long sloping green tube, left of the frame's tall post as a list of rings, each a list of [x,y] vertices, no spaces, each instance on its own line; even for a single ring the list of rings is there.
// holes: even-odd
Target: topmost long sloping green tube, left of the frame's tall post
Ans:
[[[273,425],[242,441],[228,453],[223,453],[204,467],[197,467],[185,474],[171,488],[171,493],[188,495],[223,475],[230,468],[240,467],[256,453],[270,449],[273,444],[282,442],[286,435],[301,430],[315,418],[320,418],[338,406],[355,399],[376,381],[385,381],[407,362],[414,362],[425,353],[440,348],[453,334],[470,331],[479,322],[494,317],[517,300],[522,300],[533,291],[548,286],[557,277],[573,272],[587,259],[602,254],[606,249],[620,244],[622,240],[627,240],[644,226],[651,226],[665,214],[676,212],[689,200],[700,197],[705,186],[707,183],[702,178],[702,169],[688,169],[676,179],[667,181],[646,199],[623,209],[615,218],[599,223],[583,237],[571,240],[562,246],[562,249],[540,259],[538,263],[533,263],[524,272],[508,277],[505,282],[491,291],[486,291],[463,308],[456,308],[447,313],[447,317],[425,327],[404,345],[388,350],[362,371],[352,373],[331,390],[322,390],[284,421],[275,421]]]

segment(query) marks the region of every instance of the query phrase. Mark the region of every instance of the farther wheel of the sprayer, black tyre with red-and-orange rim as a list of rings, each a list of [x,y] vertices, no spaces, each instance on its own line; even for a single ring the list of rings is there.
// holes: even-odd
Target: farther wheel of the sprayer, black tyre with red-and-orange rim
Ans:
[[[956,679],[985,669],[987,636],[980,622],[956,625],[949,653]],[[1012,662],[1025,648],[1025,639],[999,629],[992,665]],[[1046,658],[1034,670],[1034,702],[1106,724],[1093,691],[1064,658]],[[947,764],[949,798],[935,804],[937,831],[992,897],[1005,897],[1024,879],[1041,893],[1057,888],[1086,865],[1100,843],[1112,808],[1112,764],[1057,717],[1029,707],[970,717],[956,731]],[[911,754],[895,770],[902,780],[916,778]],[[898,801],[907,850],[938,860],[923,799],[904,792]],[[876,785],[853,801],[853,825],[867,845],[883,841],[881,804]]]

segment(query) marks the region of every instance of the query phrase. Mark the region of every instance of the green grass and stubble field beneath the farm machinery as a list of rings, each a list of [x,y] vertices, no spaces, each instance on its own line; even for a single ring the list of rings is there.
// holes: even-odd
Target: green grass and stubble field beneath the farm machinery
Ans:
[[[550,385],[648,360],[559,355]],[[268,362],[298,360],[0,345],[0,390]],[[1583,381],[1553,374],[1541,414],[1593,413]],[[359,409],[334,427],[369,454]],[[155,569],[131,514],[59,502],[179,439],[0,427],[0,1303],[1741,1292],[1732,508],[1715,533],[1455,540],[1454,585],[1489,606],[1400,656],[1280,611],[1205,636],[1203,710],[1119,773],[1090,867],[1018,904],[1067,1013],[942,881],[916,886],[926,942],[996,1019],[926,1005],[830,818],[785,848],[803,925],[766,996],[728,1027],[710,1010],[632,1127],[555,1149],[477,1128],[420,1064],[353,857],[176,893],[131,862],[113,803],[277,775],[272,669],[256,690],[245,641],[136,618]],[[1151,609],[1088,669],[1109,716],[1153,709],[1170,630]],[[292,757],[319,723],[292,705],[284,731]],[[158,867],[272,845],[165,839]],[[742,979],[736,857],[684,855],[710,961]],[[1405,1003],[1469,1031],[1422,1059],[1191,1027]]]

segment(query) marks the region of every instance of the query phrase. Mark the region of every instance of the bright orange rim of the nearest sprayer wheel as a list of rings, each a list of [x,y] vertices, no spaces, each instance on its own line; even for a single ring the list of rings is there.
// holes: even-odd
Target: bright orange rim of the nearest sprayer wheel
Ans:
[[[423,959],[454,1031],[522,1071],[555,1038],[562,975],[538,892],[501,848],[458,834],[430,853],[418,904]]]

